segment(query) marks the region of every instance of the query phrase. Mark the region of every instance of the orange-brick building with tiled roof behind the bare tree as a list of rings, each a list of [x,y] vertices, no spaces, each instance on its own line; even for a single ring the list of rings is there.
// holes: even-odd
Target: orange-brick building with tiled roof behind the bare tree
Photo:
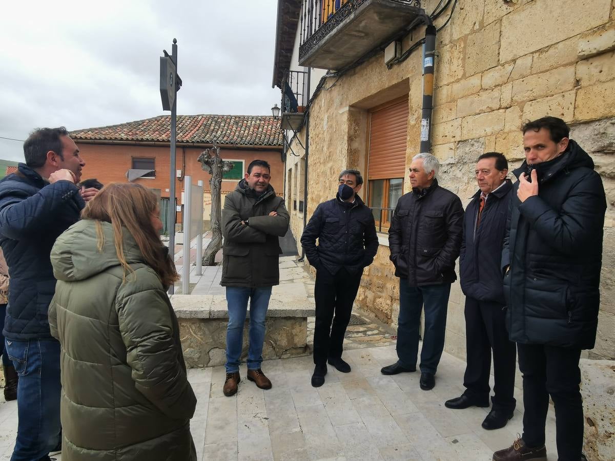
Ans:
[[[108,127],[85,128],[71,132],[85,161],[82,179],[97,178],[103,184],[132,182],[143,184],[169,199],[170,175],[175,178],[177,204],[181,207],[183,179],[202,180],[205,191],[205,221],[209,220],[211,176],[197,162],[199,154],[215,141],[220,156],[234,162],[224,173],[222,194],[232,191],[244,177],[252,160],[271,165],[271,185],[280,195],[284,189],[284,165],[280,157],[282,132],[279,120],[271,116],[177,116],[175,168],[170,170],[170,116],[137,120]],[[139,170],[139,171],[135,171]],[[134,173],[134,174],[132,174]],[[132,176],[137,176],[132,179]],[[164,203],[164,200],[163,202]],[[181,223],[181,211],[177,213]]]

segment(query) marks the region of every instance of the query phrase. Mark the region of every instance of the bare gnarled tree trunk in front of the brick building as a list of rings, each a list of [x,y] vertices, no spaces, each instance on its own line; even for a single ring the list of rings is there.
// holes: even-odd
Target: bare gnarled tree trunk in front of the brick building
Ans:
[[[205,249],[202,264],[203,266],[215,266],[216,253],[222,248],[222,173],[223,171],[230,171],[233,167],[233,162],[224,162],[224,160],[220,158],[220,148],[218,148],[215,143],[213,144],[213,148],[205,149],[205,151],[200,154],[199,162],[201,162],[203,170],[212,175],[209,179],[209,188],[212,194],[212,240]]]

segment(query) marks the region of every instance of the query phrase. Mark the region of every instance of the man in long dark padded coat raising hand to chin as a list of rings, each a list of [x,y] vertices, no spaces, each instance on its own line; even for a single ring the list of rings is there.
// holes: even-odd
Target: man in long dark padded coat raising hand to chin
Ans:
[[[523,125],[526,161],[510,202],[502,251],[507,327],[523,373],[523,435],[494,460],[546,459],[549,395],[560,461],[582,459],[582,349],[592,349],[600,306],[605,190],[565,122]]]

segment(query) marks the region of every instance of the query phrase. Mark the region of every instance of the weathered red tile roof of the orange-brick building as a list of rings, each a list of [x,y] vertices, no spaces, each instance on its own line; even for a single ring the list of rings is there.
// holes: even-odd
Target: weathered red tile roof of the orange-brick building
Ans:
[[[171,116],[71,132],[73,140],[169,142]],[[280,119],[271,116],[177,116],[177,142],[236,146],[282,146]]]

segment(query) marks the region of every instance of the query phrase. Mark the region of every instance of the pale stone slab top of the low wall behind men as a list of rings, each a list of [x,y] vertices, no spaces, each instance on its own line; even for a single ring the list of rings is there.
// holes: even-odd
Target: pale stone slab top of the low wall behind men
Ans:
[[[171,304],[178,318],[228,318],[223,294],[173,294]],[[272,294],[267,317],[313,317],[313,299]],[[247,317],[250,317],[248,310]]]

